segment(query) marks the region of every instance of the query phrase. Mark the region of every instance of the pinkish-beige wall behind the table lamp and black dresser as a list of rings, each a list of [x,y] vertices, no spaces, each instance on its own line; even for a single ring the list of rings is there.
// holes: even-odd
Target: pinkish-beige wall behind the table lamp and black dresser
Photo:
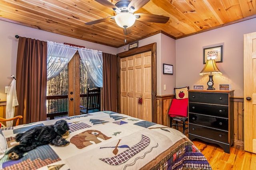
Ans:
[[[214,76],[214,87],[231,84],[234,96],[244,97],[243,35],[256,31],[256,18],[213,29],[176,40],[176,86],[204,85],[208,76],[199,76],[203,69],[203,49],[223,45],[223,62],[216,63],[222,76]]]

